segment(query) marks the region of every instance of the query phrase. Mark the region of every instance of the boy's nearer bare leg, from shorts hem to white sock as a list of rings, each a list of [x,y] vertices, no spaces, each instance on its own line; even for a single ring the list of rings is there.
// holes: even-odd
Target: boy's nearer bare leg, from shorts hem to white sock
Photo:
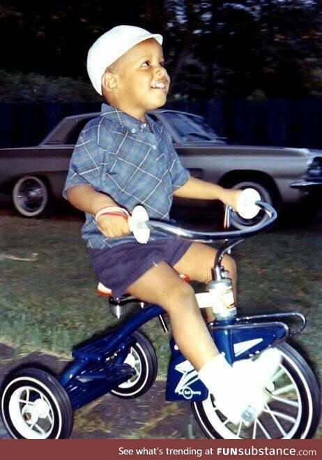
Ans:
[[[181,353],[194,369],[218,354],[201,316],[194,290],[166,262],[160,262],[129,286],[128,292],[169,314],[172,334]]]

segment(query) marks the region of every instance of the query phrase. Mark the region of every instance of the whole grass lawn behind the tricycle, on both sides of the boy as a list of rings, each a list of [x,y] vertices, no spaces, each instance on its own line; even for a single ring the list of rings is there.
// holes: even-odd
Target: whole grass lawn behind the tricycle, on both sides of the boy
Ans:
[[[42,350],[70,355],[72,347],[115,325],[106,300],[96,295],[77,218],[0,220],[0,340],[18,353]],[[258,235],[233,252],[238,263],[240,313],[299,311],[307,328],[295,343],[321,381],[321,230],[278,229]],[[15,255],[33,262],[8,258]],[[168,338],[157,319],[145,327],[167,368]]]

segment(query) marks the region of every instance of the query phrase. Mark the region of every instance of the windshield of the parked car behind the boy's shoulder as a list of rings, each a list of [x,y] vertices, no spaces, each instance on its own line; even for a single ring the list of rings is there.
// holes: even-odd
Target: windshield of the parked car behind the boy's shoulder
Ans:
[[[220,142],[217,134],[203,117],[180,112],[163,112],[169,123],[174,126],[183,142],[211,140]]]

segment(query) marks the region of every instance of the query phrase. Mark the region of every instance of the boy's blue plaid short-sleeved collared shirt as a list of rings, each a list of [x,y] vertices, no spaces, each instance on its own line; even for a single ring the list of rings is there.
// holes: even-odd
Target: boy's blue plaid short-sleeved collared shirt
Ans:
[[[100,117],[89,121],[79,135],[63,196],[68,188],[90,184],[129,212],[143,205],[151,218],[168,219],[173,192],[190,175],[162,124],[151,117],[147,121],[103,104]],[[135,241],[132,235],[105,237],[91,214],[86,214],[82,237],[89,248],[98,249]]]

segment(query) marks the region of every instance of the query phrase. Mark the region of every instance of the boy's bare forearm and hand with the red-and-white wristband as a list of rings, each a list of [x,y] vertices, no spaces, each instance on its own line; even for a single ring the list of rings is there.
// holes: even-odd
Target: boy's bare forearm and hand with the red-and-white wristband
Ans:
[[[109,206],[118,206],[108,195],[95,191],[95,189],[88,184],[68,188],[66,197],[72,206],[80,211],[93,214],[93,216],[95,216],[100,209]],[[98,230],[100,230],[105,237],[116,238],[122,237],[123,235],[129,235],[130,233],[128,221],[121,216],[102,214],[95,219],[95,222]]]

